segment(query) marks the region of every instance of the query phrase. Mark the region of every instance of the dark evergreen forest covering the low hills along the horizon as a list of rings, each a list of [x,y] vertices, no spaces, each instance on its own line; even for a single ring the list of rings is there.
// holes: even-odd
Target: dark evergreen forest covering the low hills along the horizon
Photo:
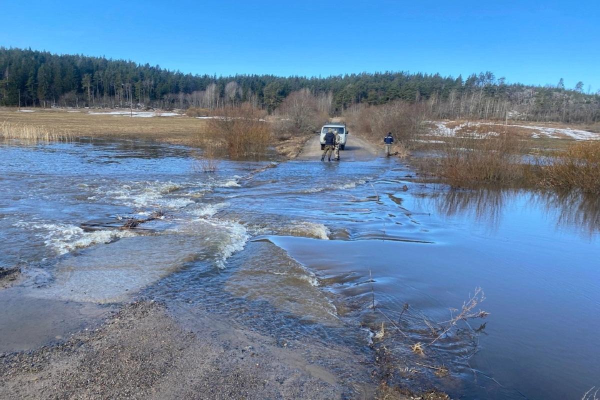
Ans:
[[[293,92],[308,89],[320,108],[339,114],[356,105],[396,100],[425,104],[435,118],[600,121],[600,93],[583,83],[556,86],[506,84],[494,74],[443,77],[406,72],[330,77],[236,75],[217,77],[169,71],[158,65],[83,55],[54,55],[0,47],[0,106],[160,107],[215,109],[241,103],[277,109]]]

